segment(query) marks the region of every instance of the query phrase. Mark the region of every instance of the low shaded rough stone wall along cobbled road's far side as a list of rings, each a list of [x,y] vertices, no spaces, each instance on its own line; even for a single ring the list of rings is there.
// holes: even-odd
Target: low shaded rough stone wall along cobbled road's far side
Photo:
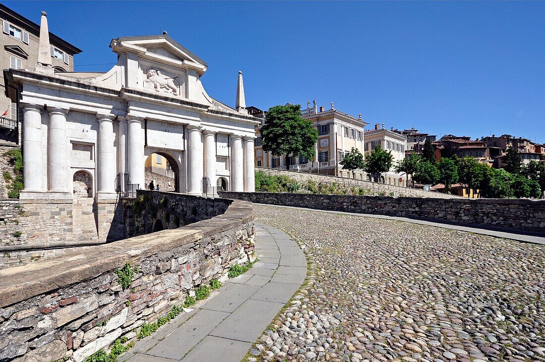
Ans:
[[[399,216],[545,235],[545,200],[392,198],[268,192],[220,192],[220,196],[259,204]]]

